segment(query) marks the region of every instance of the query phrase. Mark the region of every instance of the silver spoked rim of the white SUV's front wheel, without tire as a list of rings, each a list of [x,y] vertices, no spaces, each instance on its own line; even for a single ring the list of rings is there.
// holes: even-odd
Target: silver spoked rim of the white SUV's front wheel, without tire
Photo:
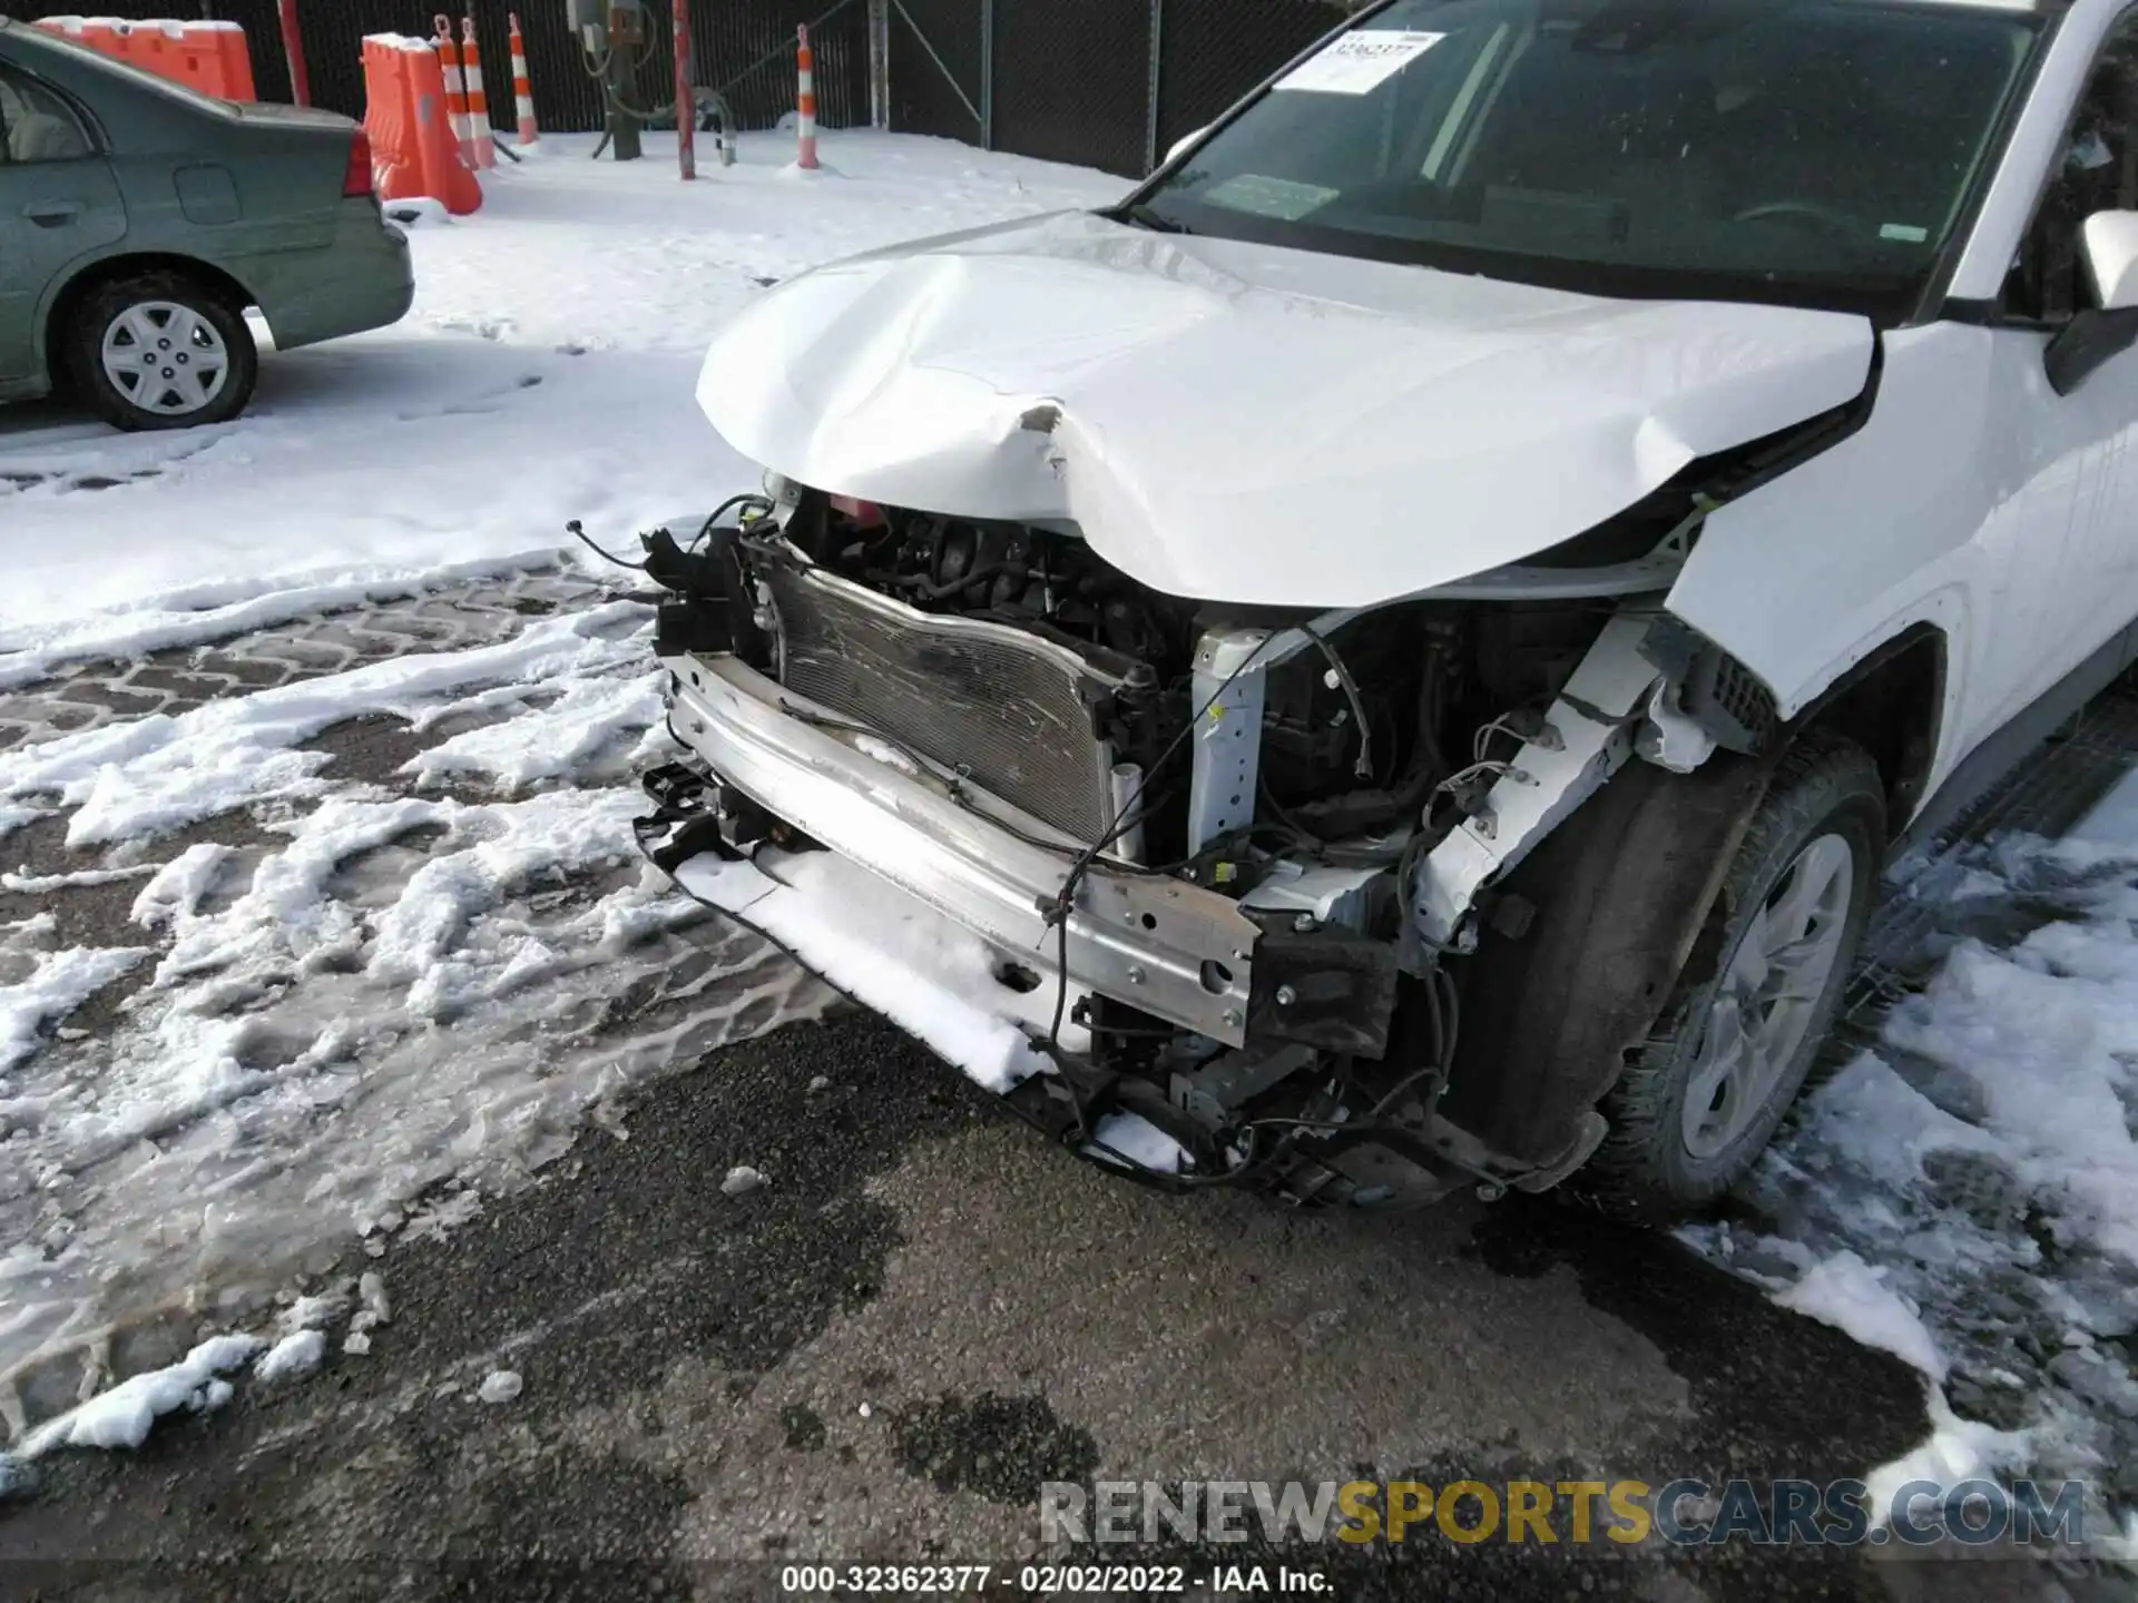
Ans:
[[[1685,1090],[1685,1150],[1695,1158],[1713,1158],[1745,1135],[1796,1062],[1841,958],[1854,893],[1856,849],[1843,836],[1819,836],[1745,925]]]

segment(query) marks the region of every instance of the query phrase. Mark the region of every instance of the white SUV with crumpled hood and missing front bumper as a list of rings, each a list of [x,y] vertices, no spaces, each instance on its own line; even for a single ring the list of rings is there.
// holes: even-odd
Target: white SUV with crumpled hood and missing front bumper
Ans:
[[[1142,1178],[1698,1210],[2132,658],[2134,118],[2110,0],[1392,0],[804,274],[699,387],[765,496],[648,536],[644,840]]]

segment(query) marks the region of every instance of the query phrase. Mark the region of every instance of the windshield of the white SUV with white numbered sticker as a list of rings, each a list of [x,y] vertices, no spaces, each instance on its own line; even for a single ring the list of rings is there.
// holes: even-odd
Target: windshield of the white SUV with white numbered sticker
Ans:
[[[1905,308],[2035,38],[1862,0],[1398,0],[1131,207],[1604,295]]]

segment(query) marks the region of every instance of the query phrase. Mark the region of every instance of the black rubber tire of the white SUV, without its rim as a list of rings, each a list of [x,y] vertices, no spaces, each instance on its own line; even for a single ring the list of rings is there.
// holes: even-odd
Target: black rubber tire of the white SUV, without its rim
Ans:
[[[1804,1002],[1802,1034],[1772,1071],[1766,1094],[1745,1099],[1742,1129],[1734,1129],[1732,1120],[1734,1133],[1719,1131],[1713,1135],[1713,1150],[1695,1150],[1687,1131],[1687,1101],[1708,1030],[1717,1028],[1732,960],[1755,915],[1787,893],[1785,874],[1828,836],[1843,840],[1852,855],[1845,870],[1832,868],[1834,885],[1847,878],[1847,906],[1834,913],[1841,925],[1839,949],[1815,1000]],[[1610,1133],[1567,1182],[1574,1199],[1618,1218],[1657,1225],[1710,1210],[1745,1178],[1802,1090],[1832,1028],[1871,917],[1884,846],[1886,789],[1877,765],[1860,746],[1832,735],[1809,735],[1781,759],[1710,917],[1710,930],[1719,928],[1719,958],[1702,964],[1698,979],[1680,979],[1646,1043],[1627,1058],[1618,1084],[1604,1096],[1599,1107],[1610,1120]],[[1830,846],[1819,851],[1832,859]],[[1813,921],[1811,928],[1824,925]],[[1695,1122],[1706,1118],[1723,1122],[1713,1107],[1695,1109]],[[1708,1139],[1706,1131],[1702,1139]]]

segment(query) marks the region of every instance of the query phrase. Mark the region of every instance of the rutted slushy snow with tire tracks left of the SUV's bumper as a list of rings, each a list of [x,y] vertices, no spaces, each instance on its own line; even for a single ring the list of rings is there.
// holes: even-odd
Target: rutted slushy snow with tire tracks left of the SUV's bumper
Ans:
[[[0,695],[11,1434],[823,1009],[637,859],[644,622],[549,569]]]

